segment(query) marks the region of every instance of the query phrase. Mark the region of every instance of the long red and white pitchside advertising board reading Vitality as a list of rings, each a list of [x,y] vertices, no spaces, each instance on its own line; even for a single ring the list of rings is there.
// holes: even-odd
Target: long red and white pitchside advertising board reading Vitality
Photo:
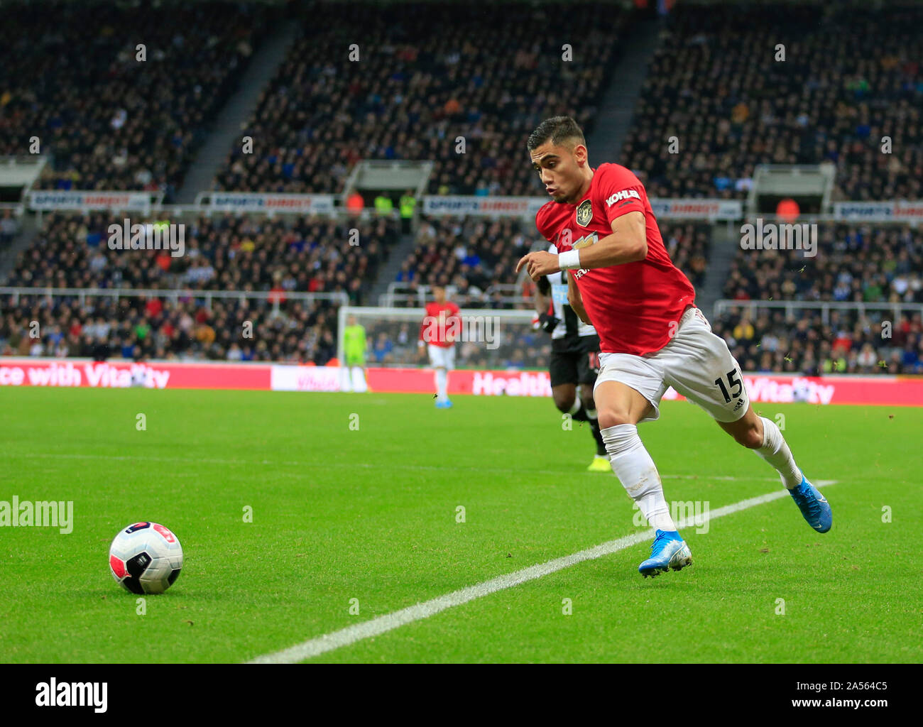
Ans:
[[[378,393],[432,394],[433,372],[417,368],[369,368]],[[923,377],[744,375],[750,400],[762,403],[881,404],[923,406]],[[180,364],[93,362],[86,359],[0,357],[0,387],[219,388],[262,391],[342,391],[336,366],[279,364]],[[545,371],[453,371],[450,394],[548,397]],[[664,399],[683,399],[672,388]]]

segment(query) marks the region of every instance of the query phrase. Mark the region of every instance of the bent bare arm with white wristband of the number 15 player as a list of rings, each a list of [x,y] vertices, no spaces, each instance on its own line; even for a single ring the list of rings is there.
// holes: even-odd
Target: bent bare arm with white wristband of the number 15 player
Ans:
[[[536,252],[529,253],[519,261],[516,272],[523,266],[533,280],[540,276],[556,273],[558,270],[578,268],[608,268],[612,265],[633,263],[647,256],[647,226],[644,213],[632,210],[611,222],[612,234],[579,250],[569,250],[560,255]]]

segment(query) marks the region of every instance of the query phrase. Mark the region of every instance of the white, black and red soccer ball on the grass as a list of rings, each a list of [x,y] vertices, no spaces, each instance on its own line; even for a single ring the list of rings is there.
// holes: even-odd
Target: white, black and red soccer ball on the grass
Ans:
[[[183,546],[156,522],[136,522],[115,536],[109,570],[132,593],[162,593],[179,577]]]

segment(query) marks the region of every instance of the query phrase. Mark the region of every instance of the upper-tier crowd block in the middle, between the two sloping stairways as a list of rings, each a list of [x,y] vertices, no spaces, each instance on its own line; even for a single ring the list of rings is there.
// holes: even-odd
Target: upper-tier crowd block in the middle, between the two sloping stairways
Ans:
[[[430,194],[533,195],[525,140],[547,116],[593,128],[627,14],[604,3],[312,6],[214,188],[336,193],[360,159],[436,162]],[[463,138],[463,141],[462,141]],[[462,147],[463,145],[463,147]]]

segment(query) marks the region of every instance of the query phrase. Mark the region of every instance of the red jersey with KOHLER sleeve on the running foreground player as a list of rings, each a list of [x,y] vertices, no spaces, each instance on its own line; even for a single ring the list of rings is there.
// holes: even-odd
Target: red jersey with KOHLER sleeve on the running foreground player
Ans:
[[[635,210],[647,222],[647,256],[572,275],[599,334],[600,351],[641,356],[669,343],[683,311],[695,302],[695,289],[670,260],[638,177],[619,164],[600,164],[585,197],[574,205],[548,202],[538,210],[535,225],[563,253],[597,243],[612,234],[612,220]]]

